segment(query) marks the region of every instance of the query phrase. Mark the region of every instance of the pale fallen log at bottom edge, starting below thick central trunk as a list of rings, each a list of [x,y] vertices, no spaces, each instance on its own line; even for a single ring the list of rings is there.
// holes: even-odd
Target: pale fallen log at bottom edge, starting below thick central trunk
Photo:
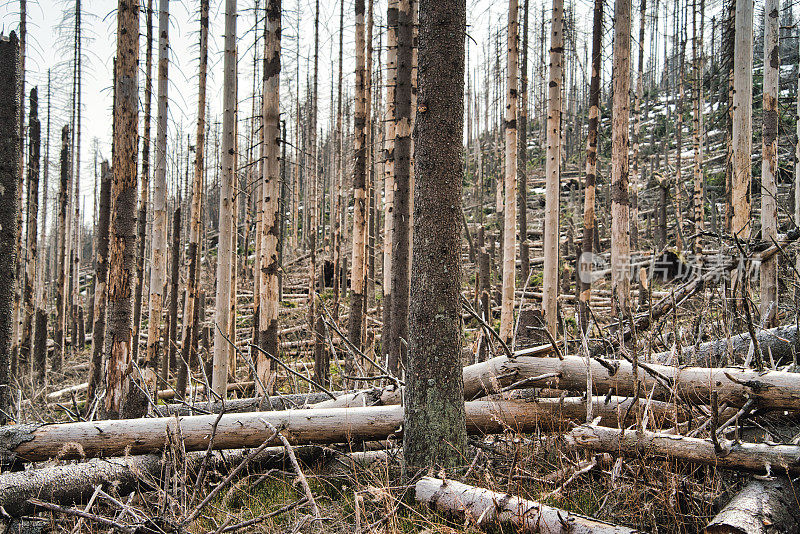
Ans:
[[[511,524],[520,532],[548,534],[622,534],[636,532],[590,517],[577,515],[484,488],[476,488],[455,480],[424,477],[414,486],[417,501],[441,512],[457,515],[478,527],[501,523]]]

